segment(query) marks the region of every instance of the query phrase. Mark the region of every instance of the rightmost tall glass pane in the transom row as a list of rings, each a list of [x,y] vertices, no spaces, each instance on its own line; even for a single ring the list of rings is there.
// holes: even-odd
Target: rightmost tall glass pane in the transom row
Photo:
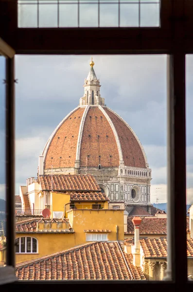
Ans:
[[[159,4],[140,4],[140,26],[159,26]]]

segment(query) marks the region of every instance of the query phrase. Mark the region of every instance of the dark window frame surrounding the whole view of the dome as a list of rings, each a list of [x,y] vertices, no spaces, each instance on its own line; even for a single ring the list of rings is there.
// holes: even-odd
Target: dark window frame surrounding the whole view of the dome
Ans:
[[[170,274],[172,281],[85,281],[84,289],[143,289],[175,291],[179,285],[183,290],[192,289],[193,283],[187,279],[186,254],[186,128],[185,128],[185,55],[193,54],[193,1],[190,0],[161,0],[160,28],[87,28],[87,29],[18,29],[17,1],[2,0],[0,2],[0,37],[10,44],[16,54],[169,54],[168,56],[168,244],[170,253]],[[89,39],[89,42],[88,42]],[[10,117],[8,119],[7,153],[11,158],[7,161],[7,201],[9,202],[9,227],[7,247],[7,262],[14,263],[14,87],[11,74],[14,73],[14,60],[8,61],[9,72],[9,101]],[[8,113],[7,113],[8,116]],[[12,122],[11,122],[12,120]],[[180,173],[177,171],[180,169]],[[8,204],[7,204],[8,205]],[[179,210],[181,218],[179,218]],[[180,240],[180,244],[178,244]],[[183,269],[181,268],[183,267]],[[7,284],[7,289],[26,291],[42,287],[52,291],[54,285],[71,288],[79,285],[78,281],[49,281],[16,282]],[[121,285],[121,286],[120,286]],[[129,285],[129,286],[128,286]],[[59,288],[59,286],[57,286]],[[82,286],[82,288],[83,288]],[[89,287],[90,286],[90,287]],[[105,286],[105,287],[104,287]]]

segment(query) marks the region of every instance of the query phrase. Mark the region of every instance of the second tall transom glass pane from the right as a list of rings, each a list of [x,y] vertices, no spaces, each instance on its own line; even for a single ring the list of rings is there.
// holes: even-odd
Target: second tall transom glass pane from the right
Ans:
[[[120,4],[120,26],[139,26],[139,4]]]

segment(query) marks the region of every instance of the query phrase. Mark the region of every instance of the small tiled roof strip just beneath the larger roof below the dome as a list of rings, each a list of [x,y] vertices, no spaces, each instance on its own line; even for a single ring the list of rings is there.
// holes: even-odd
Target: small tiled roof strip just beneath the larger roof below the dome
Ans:
[[[70,201],[109,201],[104,193],[70,193]]]

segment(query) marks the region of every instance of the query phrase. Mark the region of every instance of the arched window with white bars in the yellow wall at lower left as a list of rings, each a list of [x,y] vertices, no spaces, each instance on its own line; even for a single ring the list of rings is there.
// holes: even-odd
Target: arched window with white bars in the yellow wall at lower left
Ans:
[[[37,239],[34,237],[19,237],[16,239],[16,253],[37,253]]]

